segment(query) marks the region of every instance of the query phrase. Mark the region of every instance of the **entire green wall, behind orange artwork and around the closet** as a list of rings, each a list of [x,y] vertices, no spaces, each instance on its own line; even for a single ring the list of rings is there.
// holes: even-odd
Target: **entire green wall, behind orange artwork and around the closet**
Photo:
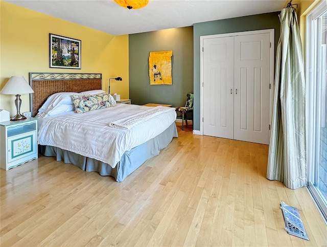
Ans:
[[[275,30],[275,54],[280,12],[207,21],[193,27],[129,35],[129,96],[132,104],[183,105],[194,92],[193,128],[200,130],[200,36],[263,29]],[[173,51],[172,85],[150,85],[149,54]]]

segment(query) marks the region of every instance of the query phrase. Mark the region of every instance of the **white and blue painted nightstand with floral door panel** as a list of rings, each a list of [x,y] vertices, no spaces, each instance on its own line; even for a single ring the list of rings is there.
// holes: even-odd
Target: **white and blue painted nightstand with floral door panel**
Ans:
[[[2,169],[37,159],[37,119],[0,122]]]

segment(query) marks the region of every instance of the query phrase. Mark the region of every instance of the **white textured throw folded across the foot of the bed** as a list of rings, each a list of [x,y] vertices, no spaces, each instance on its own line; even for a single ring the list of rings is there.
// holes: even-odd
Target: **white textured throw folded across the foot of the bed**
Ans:
[[[113,121],[109,123],[109,126],[119,129],[130,129],[135,124],[142,123],[150,118],[153,118],[161,113],[165,113],[166,111],[169,110],[175,110],[175,108],[166,107],[166,106],[151,107],[150,109],[142,111],[141,113],[137,113],[133,116]]]

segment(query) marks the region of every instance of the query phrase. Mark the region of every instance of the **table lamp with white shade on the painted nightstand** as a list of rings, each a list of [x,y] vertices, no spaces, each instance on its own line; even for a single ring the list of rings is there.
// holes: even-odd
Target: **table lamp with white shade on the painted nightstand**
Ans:
[[[24,115],[20,114],[20,105],[21,105],[21,94],[31,94],[34,93],[33,89],[30,87],[28,82],[22,76],[12,76],[7,84],[4,86],[0,94],[12,94],[16,95],[15,105],[17,114],[12,117],[10,120],[23,120],[26,119]]]

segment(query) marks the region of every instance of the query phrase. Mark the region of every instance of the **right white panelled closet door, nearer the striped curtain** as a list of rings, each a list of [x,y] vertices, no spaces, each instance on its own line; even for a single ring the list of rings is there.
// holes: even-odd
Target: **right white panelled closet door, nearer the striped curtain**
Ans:
[[[234,139],[269,144],[270,34],[235,37]]]

